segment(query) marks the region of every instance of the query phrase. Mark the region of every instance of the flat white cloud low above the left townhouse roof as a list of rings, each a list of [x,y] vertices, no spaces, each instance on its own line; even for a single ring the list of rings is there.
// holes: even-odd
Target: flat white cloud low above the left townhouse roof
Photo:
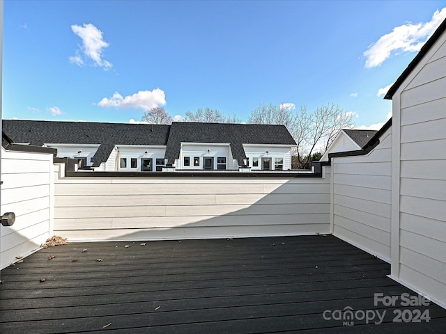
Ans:
[[[104,97],[98,102],[98,106],[102,106],[102,108],[114,107],[119,109],[141,109],[144,111],[151,110],[155,106],[164,106],[165,104],[166,96],[160,88],[141,90],[126,97],[116,92],[112,97]]]

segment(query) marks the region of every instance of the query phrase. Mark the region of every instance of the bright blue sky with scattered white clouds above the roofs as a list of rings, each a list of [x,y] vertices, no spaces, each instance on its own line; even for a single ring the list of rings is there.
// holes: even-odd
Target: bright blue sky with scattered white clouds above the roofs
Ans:
[[[246,121],[259,104],[333,103],[376,128],[446,1],[5,0],[3,15],[6,119],[208,106]]]

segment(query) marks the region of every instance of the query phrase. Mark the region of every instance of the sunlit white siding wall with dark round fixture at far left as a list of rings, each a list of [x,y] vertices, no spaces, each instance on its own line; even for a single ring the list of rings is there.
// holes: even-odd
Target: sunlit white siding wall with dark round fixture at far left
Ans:
[[[15,212],[13,226],[0,225],[0,269],[38,250],[52,233],[52,154],[1,148],[1,213]]]

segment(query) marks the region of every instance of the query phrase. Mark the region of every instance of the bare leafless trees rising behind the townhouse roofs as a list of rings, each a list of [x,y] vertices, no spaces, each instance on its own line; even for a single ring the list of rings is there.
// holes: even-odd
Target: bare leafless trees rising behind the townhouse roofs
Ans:
[[[169,125],[173,121],[162,106],[146,111],[141,120],[151,124]],[[200,108],[187,111],[184,122],[241,123],[234,114],[226,116],[217,109]],[[321,159],[341,129],[355,125],[351,113],[335,104],[324,104],[314,111],[305,106],[295,109],[289,104],[259,104],[247,119],[248,124],[285,125],[297,146],[293,152],[293,169],[308,169],[312,161]]]

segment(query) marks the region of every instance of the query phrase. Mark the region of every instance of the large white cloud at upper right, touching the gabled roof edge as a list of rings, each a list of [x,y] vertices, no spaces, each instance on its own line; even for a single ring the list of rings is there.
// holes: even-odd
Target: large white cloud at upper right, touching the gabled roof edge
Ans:
[[[446,7],[440,11],[436,10],[429,22],[418,24],[408,22],[395,27],[392,33],[381,36],[364,51],[363,55],[367,58],[365,67],[380,66],[390,57],[392,51],[420,51],[445,18]]]

